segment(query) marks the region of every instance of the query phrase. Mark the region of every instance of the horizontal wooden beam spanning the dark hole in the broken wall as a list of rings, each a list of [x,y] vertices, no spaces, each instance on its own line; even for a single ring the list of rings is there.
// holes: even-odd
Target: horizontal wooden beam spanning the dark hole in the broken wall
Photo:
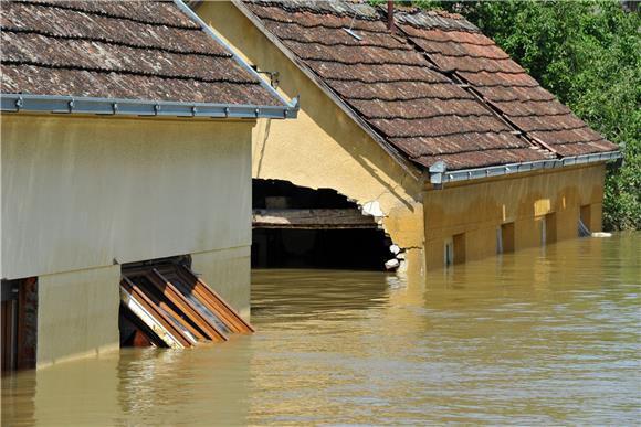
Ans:
[[[377,228],[374,216],[358,209],[260,209],[252,211],[254,228]]]

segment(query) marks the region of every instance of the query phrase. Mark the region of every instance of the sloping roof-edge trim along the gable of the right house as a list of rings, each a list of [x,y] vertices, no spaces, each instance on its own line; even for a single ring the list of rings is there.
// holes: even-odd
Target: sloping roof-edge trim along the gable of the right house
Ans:
[[[325,93],[349,118],[351,118],[362,130],[365,130],[393,160],[414,180],[420,181],[424,174],[423,169],[409,161],[395,147],[392,147],[380,134],[371,128],[361,117],[359,117],[329,86],[327,86],[318,76],[312,72],[305,64],[292,53],[275,35],[273,35],[262,24],[241,0],[231,0],[240,12],[250,20],[270,40],[290,61],[298,67],[320,90]],[[225,44],[227,45],[227,44]]]

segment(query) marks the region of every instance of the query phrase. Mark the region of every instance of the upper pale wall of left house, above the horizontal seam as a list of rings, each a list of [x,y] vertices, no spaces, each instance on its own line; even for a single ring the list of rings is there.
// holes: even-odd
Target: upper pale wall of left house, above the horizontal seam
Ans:
[[[1,120],[2,277],[251,245],[253,121]]]

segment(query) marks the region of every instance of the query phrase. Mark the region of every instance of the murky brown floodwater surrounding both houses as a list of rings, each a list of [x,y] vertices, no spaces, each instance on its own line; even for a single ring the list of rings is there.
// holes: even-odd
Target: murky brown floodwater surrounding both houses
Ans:
[[[641,233],[423,279],[253,271],[258,333],[2,378],[3,425],[639,425]]]

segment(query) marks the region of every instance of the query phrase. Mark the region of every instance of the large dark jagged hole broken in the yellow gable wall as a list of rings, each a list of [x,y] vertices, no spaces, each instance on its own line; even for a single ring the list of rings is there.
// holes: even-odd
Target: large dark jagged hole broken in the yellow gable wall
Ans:
[[[391,239],[332,189],[253,180],[252,268],[385,270]]]

